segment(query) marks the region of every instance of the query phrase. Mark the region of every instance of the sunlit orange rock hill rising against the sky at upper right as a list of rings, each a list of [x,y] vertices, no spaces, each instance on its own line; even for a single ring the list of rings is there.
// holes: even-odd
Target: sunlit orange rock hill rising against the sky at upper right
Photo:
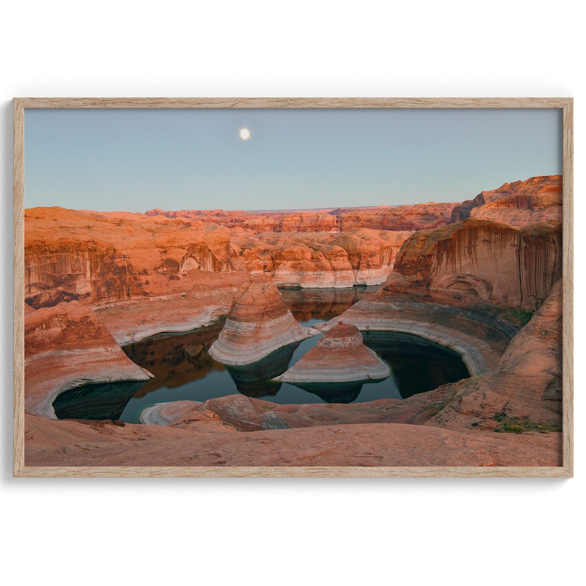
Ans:
[[[493,220],[509,226],[561,222],[561,175],[531,177],[483,191],[452,210],[451,222],[468,217]]]

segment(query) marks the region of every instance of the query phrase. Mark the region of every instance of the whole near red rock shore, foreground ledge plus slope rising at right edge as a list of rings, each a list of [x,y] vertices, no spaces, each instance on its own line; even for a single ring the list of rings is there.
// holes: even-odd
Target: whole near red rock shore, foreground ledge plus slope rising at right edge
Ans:
[[[26,463],[87,465],[91,446],[92,465],[558,466],[560,298],[558,283],[485,375],[406,400],[277,405],[233,395],[156,406],[154,426],[26,415]]]

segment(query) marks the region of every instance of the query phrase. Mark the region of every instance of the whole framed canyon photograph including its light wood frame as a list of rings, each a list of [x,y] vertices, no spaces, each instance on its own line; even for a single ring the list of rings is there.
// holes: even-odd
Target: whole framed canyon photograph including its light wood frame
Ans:
[[[15,476],[572,476],[572,98],[15,98]]]

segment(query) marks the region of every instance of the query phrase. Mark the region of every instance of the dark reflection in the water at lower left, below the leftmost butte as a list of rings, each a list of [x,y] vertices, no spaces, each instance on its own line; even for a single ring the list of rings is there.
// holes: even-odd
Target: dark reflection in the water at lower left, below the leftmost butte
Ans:
[[[59,419],[118,420],[130,398],[145,384],[144,380],[121,383],[86,384],[64,391],[53,401]]]

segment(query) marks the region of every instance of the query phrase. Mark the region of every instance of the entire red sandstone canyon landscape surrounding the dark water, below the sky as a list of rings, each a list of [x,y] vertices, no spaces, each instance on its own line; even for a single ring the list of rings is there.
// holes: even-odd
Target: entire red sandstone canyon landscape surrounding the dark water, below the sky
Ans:
[[[463,203],[25,210],[26,464],[561,465],[560,221],[560,176]],[[352,306],[336,301],[383,283]],[[330,295],[318,316],[328,321],[304,328],[276,285]],[[158,403],[140,424],[56,419],[54,399],[83,384],[157,388],[158,372],[121,345],[192,330],[186,351],[205,347],[226,364],[326,332],[280,377],[314,361],[310,374],[325,367],[344,381],[357,370],[348,358],[366,350],[359,331],[403,332],[458,352],[471,376],[403,400],[280,405],[233,394]]]

